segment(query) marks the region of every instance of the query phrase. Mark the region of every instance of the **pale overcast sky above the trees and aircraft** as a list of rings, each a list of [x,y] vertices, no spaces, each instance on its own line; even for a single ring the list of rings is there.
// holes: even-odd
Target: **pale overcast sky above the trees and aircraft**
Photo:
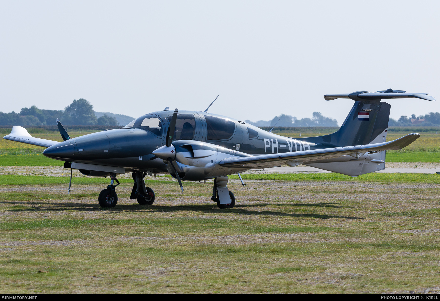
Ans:
[[[33,104],[138,117],[204,111],[253,121],[313,111],[326,93],[401,89],[391,117],[440,111],[440,1],[1,1],[0,111]]]

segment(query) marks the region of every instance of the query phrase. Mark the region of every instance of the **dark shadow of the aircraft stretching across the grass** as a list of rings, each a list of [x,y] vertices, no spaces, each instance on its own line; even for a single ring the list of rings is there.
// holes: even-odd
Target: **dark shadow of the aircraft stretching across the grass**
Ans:
[[[23,201],[6,201],[2,202],[6,204],[21,204],[26,205]],[[45,212],[45,211],[107,211],[107,212],[122,212],[122,211],[130,211],[133,209],[147,209],[148,212],[176,212],[176,211],[192,211],[192,212],[206,212],[206,213],[224,213],[224,210],[220,210],[218,208],[213,207],[213,205],[178,205],[178,206],[164,206],[164,205],[151,205],[149,207],[145,207],[143,205],[132,204],[132,205],[118,205],[115,208],[106,208],[103,209],[99,207],[99,204],[84,204],[84,203],[49,203],[49,202],[33,202],[33,205],[53,205],[59,206],[58,208],[17,208],[17,209],[9,209],[8,212]],[[322,204],[328,203],[319,203],[319,204],[305,204],[309,206],[322,206]],[[356,216],[337,216],[337,215],[327,215],[327,214],[319,214],[319,213],[286,213],[279,211],[248,211],[242,208],[252,208],[252,207],[266,207],[268,204],[243,204],[236,205],[235,209],[231,209],[227,211],[228,213],[237,214],[237,215],[253,215],[253,216],[288,216],[288,217],[313,217],[317,219],[363,219],[361,217]],[[301,204],[292,204],[292,205],[301,205]],[[304,204],[303,204],[304,205]],[[84,208],[87,206],[88,208]],[[92,208],[90,208],[92,207]],[[340,207],[334,207],[340,208]]]

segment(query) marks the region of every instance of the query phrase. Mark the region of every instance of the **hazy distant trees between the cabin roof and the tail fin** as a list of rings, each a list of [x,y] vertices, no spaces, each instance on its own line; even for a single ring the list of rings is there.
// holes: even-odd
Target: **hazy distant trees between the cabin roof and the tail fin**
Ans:
[[[297,119],[291,115],[281,114],[279,116],[275,116],[270,121],[258,120],[257,122],[252,122],[250,120],[245,120],[245,122],[250,123],[254,126],[337,126],[336,119],[331,119],[323,116],[319,112],[313,112],[312,118],[302,118]]]

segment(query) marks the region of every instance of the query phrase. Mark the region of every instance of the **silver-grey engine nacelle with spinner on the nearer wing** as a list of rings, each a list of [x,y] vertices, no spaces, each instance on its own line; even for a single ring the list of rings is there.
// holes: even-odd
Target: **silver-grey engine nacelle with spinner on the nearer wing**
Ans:
[[[168,162],[168,164],[174,164],[179,177],[188,181],[201,181],[246,171],[246,168],[223,167],[218,162],[226,158],[251,156],[244,152],[193,140],[173,141],[171,146],[162,146],[155,150],[153,154]],[[175,154],[176,158],[172,163],[167,161],[170,154]],[[168,172],[174,175],[171,166],[168,167]]]

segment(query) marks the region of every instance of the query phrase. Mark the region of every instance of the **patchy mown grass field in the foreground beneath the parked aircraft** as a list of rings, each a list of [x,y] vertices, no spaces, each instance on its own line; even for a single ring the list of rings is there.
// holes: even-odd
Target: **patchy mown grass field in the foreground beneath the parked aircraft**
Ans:
[[[156,201],[141,206],[123,180],[104,209],[96,199],[108,179],[74,178],[66,195],[67,178],[0,176],[0,291],[439,292],[434,175],[253,176],[263,177],[228,185],[237,201],[227,210],[208,183],[184,182],[181,193],[147,181]]]

